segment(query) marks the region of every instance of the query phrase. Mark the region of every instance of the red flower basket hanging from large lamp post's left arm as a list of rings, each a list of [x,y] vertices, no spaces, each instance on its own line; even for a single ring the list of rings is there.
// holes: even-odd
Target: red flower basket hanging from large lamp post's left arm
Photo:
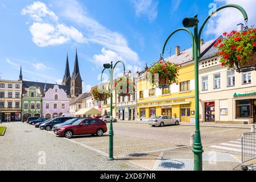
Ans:
[[[177,83],[179,66],[175,63],[165,61],[162,57],[158,63],[147,70],[146,78],[157,88],[169,88],[173,83]]]

